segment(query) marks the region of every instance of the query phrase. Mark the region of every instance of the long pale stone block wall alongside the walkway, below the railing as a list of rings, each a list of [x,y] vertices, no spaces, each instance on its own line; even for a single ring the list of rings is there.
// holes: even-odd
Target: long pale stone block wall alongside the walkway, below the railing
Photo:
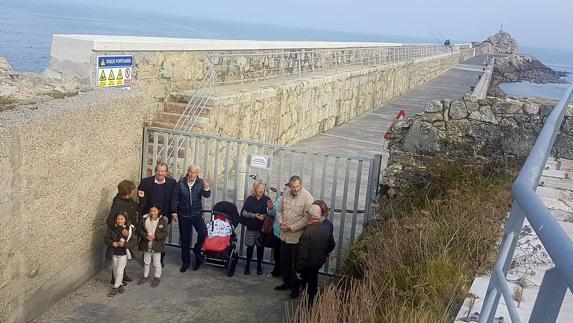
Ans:
[[[349,121],[442,74],[460,54],[245,86],[210,102],[203,133],[290,145]]]

